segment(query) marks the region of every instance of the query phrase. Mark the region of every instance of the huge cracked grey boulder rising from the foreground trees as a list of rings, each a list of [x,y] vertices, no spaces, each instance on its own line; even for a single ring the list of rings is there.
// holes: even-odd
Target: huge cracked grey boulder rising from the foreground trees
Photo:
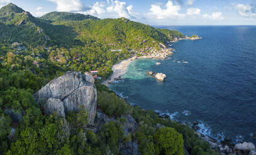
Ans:
[[[97,91],[91,74],[69,71],[53,79],[34,94],[36,102],[42,104],[46,114],[57,111],[65,117],[69,111],[79,111],[81,106],[87,109],[89,123],[96,114]]]

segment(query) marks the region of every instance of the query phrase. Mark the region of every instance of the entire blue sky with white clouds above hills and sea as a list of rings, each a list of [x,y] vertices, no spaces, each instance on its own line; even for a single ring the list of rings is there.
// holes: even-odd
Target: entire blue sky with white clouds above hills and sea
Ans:
[[[151,25],[256,25],[256,0],[0,0],[0,7],[9,2],[36,17],[66,11]]]

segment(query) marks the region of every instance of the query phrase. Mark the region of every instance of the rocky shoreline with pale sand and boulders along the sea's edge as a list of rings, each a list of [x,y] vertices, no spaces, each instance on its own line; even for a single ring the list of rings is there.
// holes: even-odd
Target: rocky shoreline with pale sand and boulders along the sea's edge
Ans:
[[[177,41],[184,40],[184,39],[197,40],[197,39],[202,39],[202,37],[199,37],[198,35],[193,35],[191,37],[187,37],[186,36],[184,38],[179,38],[179,39],[175,38],[174,41],[172,41],[172,42],[177,42]],[[150,53],[150,54],[143,54],[143,56],[133,56],[133,57],[131,57],[129,59],[126,59],[125,61],[122,61],[119,64],[115,64],[113,66],[113,71],[115,71],[116,65],[120,66],[120,64],[125,62],[125,66],[123,68],[123,72],[121,72],[121,74],[113,74],[111,76],[110,80],[108,81],[108,84],[106,84],[106,81],[103,81],[103,84],[105,84],[106,86],[109,86],[109,84],[112,83],[113,81],[120,80],[121,76],[123,74],[125,74],[127,66],[132,61],[134,61],[136,59],[167,59],[167,58],[169,58],[169,56],[171,56],[173,54],[172,51],[174,51],[174,49],[171,48],[171,46],[172,46],[171,43],[172,42],[169,42],[169,44],[167,44],[167,46],[164,46],[163,44],[160,44],[160,46],[161,46],[160,51],[155,51],[155,49],[153,49],[153,52]],[[126,61],[128,61],[128,63],[126,63]],[[157,75],[157,73],[153,73],[152,71],[151,72],[148,71],[147,74],[152,76],[152,77],[155,77]],[[164,76],[164,78],[166,78],[166,76]],[[164,81],[164,78],[159,79],[159,80],[160,81]],[[120,96],[120,98],[122,98],[122,96]],[[168,116],[167,114],[163,115],[163,114],[160,114],[159,112],[156,112],[156,114],[160,118],[171,119],[170,116]],[[175,120],[172,120],[172,121],[175,121]],[[177,122],[181,123],[179,121],[177,121]],[[181,124],[184,124],[184,123],[181,123]],[[211,138],[210,136],[207,136],[207,135],[204,135],[202,133],[199,133],[198,132],[198,128],[199,128],[198,125],[199,125],[199,123],[197,121],[194,122],[192,125],[191,124],[184,124],[184,125],[187,125],[190,128],[194,129],[195,134],[197,134],[199,138],[201,138],[203,141],[206,141],[209,144],[209,146],[211,146],[212,149],[220,152],[221,154],[227,154],[227,155],[228,154],[256,155],[256,153],[255,153],[255,146],[252,143],[244,142],[244,143],[235,144],[235,143],[232,143],[230,138],[224,138],[222,141],[218,141],[218,139],[214,139],[214,138]]]

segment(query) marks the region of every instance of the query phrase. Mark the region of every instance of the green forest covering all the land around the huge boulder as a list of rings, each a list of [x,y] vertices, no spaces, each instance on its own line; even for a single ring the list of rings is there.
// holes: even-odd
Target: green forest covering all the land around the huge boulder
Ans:
[[[113,64],[180,37],[184,37],[181,32],[125,18],[68,12],[36,18],[14,4],[4,6],[0,9],[0,154],[121,154],[120,146],[127,142],[138,143],[141,154],[218,154],[189,126],[130,106],[101,80],[95,82],[97,109],[114,121],[97,133],[84,128],[86,109],[65,118],[57,113],[47,116],[33,98],[67,71],[97,70],[98,76],[108,78]],[[139,125],[132,134],[122,129],[124,114]]]

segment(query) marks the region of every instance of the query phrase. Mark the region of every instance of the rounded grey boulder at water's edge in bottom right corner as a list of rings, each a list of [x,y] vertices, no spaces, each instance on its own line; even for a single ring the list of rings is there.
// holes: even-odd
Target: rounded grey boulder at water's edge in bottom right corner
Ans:
[[[237,154],[248,154],[250,151],[255,151],[255,146],[252,143],[240,143],[235,145],[235,151]]]

